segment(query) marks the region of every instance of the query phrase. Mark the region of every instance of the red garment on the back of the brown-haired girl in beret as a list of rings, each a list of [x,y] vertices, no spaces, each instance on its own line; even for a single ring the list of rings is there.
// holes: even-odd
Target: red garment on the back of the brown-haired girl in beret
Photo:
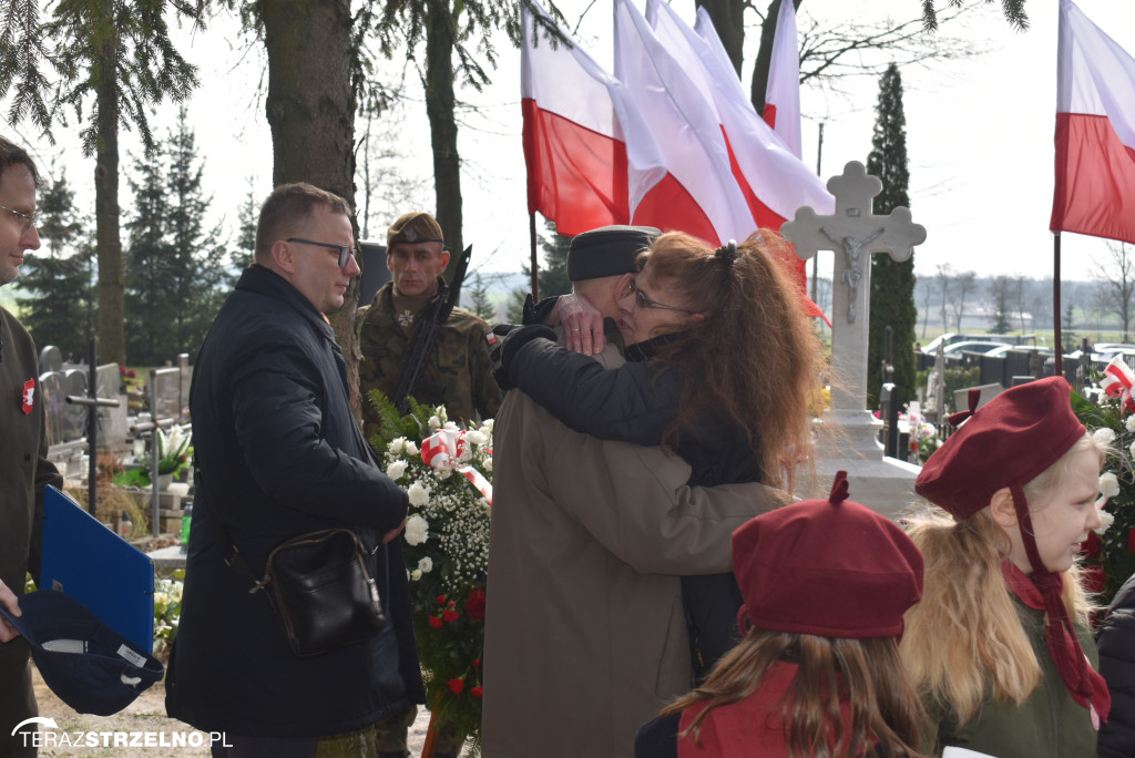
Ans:
[[[788,755],[784,739],[784,696],[796,680],[799,666],[776,662],[768,668],[760,687],[749,697],[728,706],[718,706],[701,719],[701,746],[693,734],[678,739],[678,758],[771,758]],[[708,704],[690,706],[682,711],[679,734],[693,723],[693,717]],[[840,704],[843,738],[850,739],[851,708]]]

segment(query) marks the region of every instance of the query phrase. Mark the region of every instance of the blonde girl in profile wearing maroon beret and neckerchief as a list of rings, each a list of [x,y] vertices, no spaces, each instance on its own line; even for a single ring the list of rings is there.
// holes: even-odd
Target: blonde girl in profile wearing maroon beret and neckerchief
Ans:
[[[1095,756],[1110,697],[1076,555],[1101,524],[1104,449],[1069,391],[1052,377],[957,414],[969,418],[915,483],[945,512],[909,529],[926,584],[901,646],[931,715],[924,748],[935,753]]]

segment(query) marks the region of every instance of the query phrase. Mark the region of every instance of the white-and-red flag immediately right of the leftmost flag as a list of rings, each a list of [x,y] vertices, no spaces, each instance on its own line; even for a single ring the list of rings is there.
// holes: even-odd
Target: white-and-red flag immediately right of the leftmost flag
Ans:
[[[753,234],[757,222],[733,176],[713,103],[628,0],[615,0],[615,76],[682,191],[663,204],[632,205],[633,222],[681,229],[712,245]],[[628,144],[638,138],[646,135],[627,133]]]

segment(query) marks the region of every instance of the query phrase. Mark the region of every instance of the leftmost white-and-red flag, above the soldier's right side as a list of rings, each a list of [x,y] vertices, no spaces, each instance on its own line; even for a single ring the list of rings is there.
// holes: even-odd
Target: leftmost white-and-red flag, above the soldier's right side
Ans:
[[[539,211],[568,236],[629,224],[632,204],[666,177],[657,146],[638,140],[628,148],[628,132],[648,129],[625,87],[579,44],[554,43],[543,31],[533,43],[532,14],[554,23],[531,6],[521,6],[528,211]]]

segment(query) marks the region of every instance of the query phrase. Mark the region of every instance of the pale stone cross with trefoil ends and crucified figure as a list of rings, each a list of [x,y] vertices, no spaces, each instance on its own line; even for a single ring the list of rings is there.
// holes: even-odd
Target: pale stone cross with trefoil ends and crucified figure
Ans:
[[[835,195],[833,216],[817,216],[805,205],[796,212],[794,220],[781,227],[781,234],[792,242],[796,254],[804,260],[821,250],[835,253],[832,367],[838,381],[833,382],[832,409],[864,411],[867,406],[871,256],[890,253],[894,260],[905,261],[915,245],[925,242],[926,229],[910,221],[910,211],[906,208],[896,208],[888,216],[875,216],[874,199],[883,191],[883,183],[878,177],[868,176],[858,161],[849,162],[842,175],[829,179],[827,189]]]

